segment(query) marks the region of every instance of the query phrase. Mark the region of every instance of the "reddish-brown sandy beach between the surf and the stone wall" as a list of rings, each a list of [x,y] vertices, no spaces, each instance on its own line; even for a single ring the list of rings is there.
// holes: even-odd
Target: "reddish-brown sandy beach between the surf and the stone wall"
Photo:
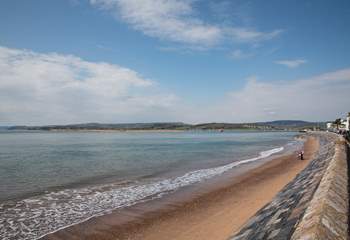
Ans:
[[[44,239],[227,239],[304,169],[317,149],[317,139],[309,137],[304,161],[296,153],[279,156],[195,197],[184,190],[176,198],[170,194],[115,211]]]

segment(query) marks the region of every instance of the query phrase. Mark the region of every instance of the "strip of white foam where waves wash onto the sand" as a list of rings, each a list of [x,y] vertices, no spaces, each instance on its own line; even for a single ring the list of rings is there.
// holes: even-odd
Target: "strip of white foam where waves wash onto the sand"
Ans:
[[[32,197],[13,204],[0,204],[0,237],[38,239],[48,233],[100,216],[114,209],[159,198],[178,188],[218,176],[238,165],[254,162],[284,148],[263,151],[259,156],[209,169],[188,172],[183,176],[143,185],[104,185],[66,189]]]

